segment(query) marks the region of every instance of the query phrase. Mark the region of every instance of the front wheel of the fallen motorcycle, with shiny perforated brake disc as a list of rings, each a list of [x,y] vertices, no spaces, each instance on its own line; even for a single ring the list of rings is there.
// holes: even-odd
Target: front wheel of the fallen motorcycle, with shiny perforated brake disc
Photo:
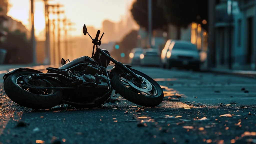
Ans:
[[[115,74],[111,77],[111,85],[116,92],[123,98],[140,106],[155,107],[161,104],[164,99],[164,92],[161,86],[146,74],[132,68],[130,69],[143,78],[144,84],[136,85],[117,68],[115,69]]]

